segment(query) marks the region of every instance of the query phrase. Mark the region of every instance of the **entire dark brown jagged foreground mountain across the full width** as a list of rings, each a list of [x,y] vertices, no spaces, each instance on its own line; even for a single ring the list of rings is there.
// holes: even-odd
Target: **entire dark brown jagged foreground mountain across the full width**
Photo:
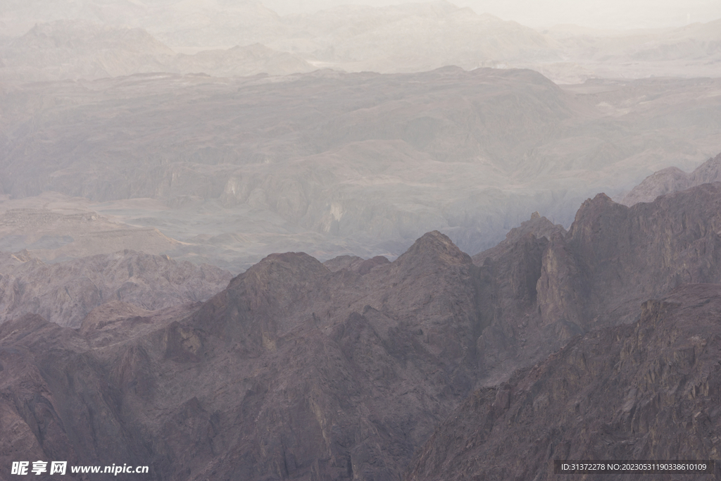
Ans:
[[[519,381],[524,376],[541,373],[545,377],[538,374],[539,379],[550,383],[539,384],[539,392],[548,394],[538,397],[540,412],[564,410],[570,402],[562,399],[565,392],[580,396],[588,389],[595,393],[590,400],[579,397],[585,426],[593,431],[595,423],[608,425],[602,416],[615,419],[615,407],[593,417],[596,406],[606,402],[607,389],[598,389],[606,374],[598,366],[616,366],[612,358],[622,356],[619,352],[631,361],[616,367],[625,377],[614,387],[619,392],[609,395],[616,396],[613,402],[623,398],[637,406],[629,412],[639,412],[639,418],[628,417],[630,425],[643,424],[638,436],[653,431],[634,438],[640,450],[628,455],[665,455],[676,445],[658,441],[668,437],[659,431],[661,418],[653,427],[655,411],[644,417],[643,406],[656,399],[653,383],[666,379],[664,373],[673,382],[680,378],[660,367],[661,358],[650,356],[663,338],[671,339],[668,349],[678,348],[685,360],[678,369],[685,370],[687,384],[676,392],[669,384],[672,398],[660,402],[705,393],[706,384],[697,382],[704,376],[710,379],[709,392],[715,392],[715,378],[704,371],[712,363],[704,356],[712,362],[716,355],[696,353],[691,345],[702,346],[703,338],[694,336],[706,329],[702,322],[714,322],[719,301],[712,299],[717,294],[707,296],[712,288],[691,283],[721,281],[720,205],[719,183],[632,208],[598,195],[584,203],[569,231],[534,214],[505,242],[473,259],[435,231],[394,262],[345,256],[323,264],[303,253],[270,255],[205,303],[154,312],[120,303],[99,306],[79,330],[26,314],[0,325],[1,463],[9,466],[22,451],[32,459],[62,458],[71,464],[147,464],[151,475],[143,479],[389,480],[404,475],[420,452],[411,474],[432,479],[456,456],[456,446],[466,446],[443,441],[451,436],[444,433],[456,428],[441,422],[452,423],[451,413],[474,407],[480,414],[469,414],[468,423],[462,416],[458,421],[471,430],[459,431],[459,439],[470,441],[477,428],[474,416],[530,412],[522,401],[529,398],[518,394],[527,389],[528,383]],[[669,321],[658,317],[658,333],[634,335],[655,315],[656,304],[645,304],[644,314],[642,302],[671,291],[667,303],[680,299],[691,309],[679,311],[683,319],[693,317],[696,304],[707,309],[694,321],[699,329],[689,322],[674,334]],[[668,310],[658,305],[660,312]],[[703,313],[711,317],[704,320]],[[663,332],[673,335],[663,337]],[[587,337],[573,340],[578,334]],[[622,339],[627,341],[614,344]],[[547,363],[573,352],[575,361],[585,359],[588,365],[576,363],[574,369],[592,374],[573,382],[596,384],[560,389],[553,394],[557,400],[552,397],[557,385],[572,379],[551,377],[552,367],[511,376],[570,340],[571,347]],[[711,341],[708,345],[713,347]],[[691,361],[693,356],[699,362]],[[641,385],[638,376],[646,372],[651,384]],[[498,388],[485,389],[464,401],[474,389],[499,382],[506,382],[500,394]],[[637,390],[629,394],[632,386]],[[496,407],[487,407],[488,402]],[[694,406],[679,405],[678,419],[686,419]],[[578,431],[579,415],[559,415],[552,423],[573,422]],[[701,423],[694,415],[686,416],[689,422]],[[708,416],[710,424],[702,424],[714,433],[716,414]],[[546,426],[539,424],[539,433],[547,432]],[[547,436],[557,441],[553,446],[570,446],[562,433]],[[588,436],[581,437],[588,442],[578,444],[579,456],[586,452],[583,446],[588,455],[626,452],[624,438],[609,438],[611,444],[598,447],[593,444],[598,436]],[[418,451],[429,438],[431,444]],[[528,442],[539,445],[545,439]],[[438,451],[434,440],[448,450]],[[492,442],[511,442],[508,436],[503,440]],[[482,440],[474,442],[481,446]],[[686,444],[689,456],[712,455],[710,444],[694,443]],[[542,474],[549,456],[565,453],[558,449],[546,457],[518,451],[516,459],[526,456],[528,464],[516,464],[513,472]]]

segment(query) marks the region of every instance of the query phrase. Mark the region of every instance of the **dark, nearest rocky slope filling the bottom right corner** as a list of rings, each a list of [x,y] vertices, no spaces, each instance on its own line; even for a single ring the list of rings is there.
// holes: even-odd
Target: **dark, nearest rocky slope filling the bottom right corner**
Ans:
[[[589,332],[507,383],[474,392],[406,479],[541,481],[557,477],[554,459],[716,459],[720,314],[717,285],[646,301],[633,325]]]

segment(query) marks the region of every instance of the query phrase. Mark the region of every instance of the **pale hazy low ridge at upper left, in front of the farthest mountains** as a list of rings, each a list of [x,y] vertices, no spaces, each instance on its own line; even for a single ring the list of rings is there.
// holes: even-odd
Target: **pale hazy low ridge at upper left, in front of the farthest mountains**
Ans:
[[[38,24],[0,46],[0,79],[100,79],[151,72],[213,76],[284,75],[315,70],[303,58],[264,45],[176,53],[140,27],[84,20]]]

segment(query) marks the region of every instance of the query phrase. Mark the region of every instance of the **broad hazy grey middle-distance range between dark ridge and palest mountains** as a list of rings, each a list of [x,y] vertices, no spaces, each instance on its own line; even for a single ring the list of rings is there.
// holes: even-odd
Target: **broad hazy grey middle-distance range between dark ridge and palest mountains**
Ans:
[[[479,252],[533,211],[570,226],[589,195],[715,156],[718,89],[559,87],[530,70],[458,68],[6,84],[0,206],[43,210],[43,195],[61,193],[83,215],[136,229],[148,253],[234,273],[287,250],[395,258],[433,229]],[[79,242],[55,225],[45,234]],[[69,239],[37,252],[36,230],[4,227],[0,242],[43,262],[72,256]],[[88,242],[96,250],[75,255],[150,249],[141,244]]]

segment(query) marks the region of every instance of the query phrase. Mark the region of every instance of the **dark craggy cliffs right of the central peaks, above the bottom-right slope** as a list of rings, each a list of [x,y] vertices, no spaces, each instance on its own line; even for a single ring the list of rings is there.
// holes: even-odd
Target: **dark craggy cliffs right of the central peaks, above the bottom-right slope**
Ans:
[[[487,372],[501,369],[494,379],[503,379],[575,335],[632,322],[645,299],[720,282],[720,202],[718,182],[632,208],[599,194],[568,232],[531,219],[474,256],[487,296],[479,340]]]

